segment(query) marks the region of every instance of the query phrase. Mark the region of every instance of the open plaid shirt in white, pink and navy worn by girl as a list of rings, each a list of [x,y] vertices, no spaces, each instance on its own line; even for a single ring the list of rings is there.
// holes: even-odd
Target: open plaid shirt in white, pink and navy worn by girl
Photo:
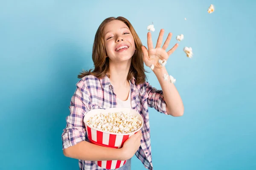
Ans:
[[[163,91],[152,88],[148,82],[136,85],[131,79],[131,107],[138,111],[144,120],[140,148],[135,155],[148,170],[153,170],[151,161],[151,144],[148,107],[155,108],[160,113],[166,113],[166,102]],[[107,76],[98,79],[92,75],[83,77],[76,84],[76,91],[70,102],[70,115],[67,116],[67,127],[62,133],[62,148],[73,146],[81,141],[88,141],[84,114],[92,109],[115,108],[116,94]],[[97,166],[94,161],[79,160],[80,170],[105,170]]]

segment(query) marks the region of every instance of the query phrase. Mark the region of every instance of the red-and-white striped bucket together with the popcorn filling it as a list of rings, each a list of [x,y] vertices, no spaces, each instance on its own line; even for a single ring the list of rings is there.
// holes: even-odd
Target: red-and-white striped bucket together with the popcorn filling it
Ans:
[[[104,147],[121,148],[124,142],[143,126],[143,118],[131,108],[93,109],[84,115],[84,124],[91,143]],[[125,161],[95,161],[105,169],[122,167]]]

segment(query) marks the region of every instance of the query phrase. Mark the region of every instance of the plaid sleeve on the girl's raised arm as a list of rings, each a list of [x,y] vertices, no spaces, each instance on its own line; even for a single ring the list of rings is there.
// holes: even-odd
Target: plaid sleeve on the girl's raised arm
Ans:
[[[145,82],[145,84],[146,92],[148,94],[148,106],[150,108],[155,108],[160,113],[167,114],[163,91],[153,88],[148,82]]]

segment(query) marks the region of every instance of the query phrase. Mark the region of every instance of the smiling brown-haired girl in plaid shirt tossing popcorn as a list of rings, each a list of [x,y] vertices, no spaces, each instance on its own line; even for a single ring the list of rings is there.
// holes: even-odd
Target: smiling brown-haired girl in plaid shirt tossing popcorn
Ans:
[[[62,134],[63,152],[67,157],[79,159],[80,170],[104,170],[95,160],[128,160],[119,170],[131,169],[131,157],[136,154],[148,170],[153,170],[148,107],[172,116],[183,115],[183,103],[170,82],[163,79],[168,75],[166,68],[158,63],[167,60],[178,44],[166,52],[172,34],[161,48],[164,30],[160,31],[157,45],[153,48],[151,33],[148,32],[148,49],[142,46],[140,38],[131,23],[124,17],[105,19],[96,31],[93,43],[95,68],[82,71],[81,80],[70,102],[67,127]],[[153,72],[161,85],[157,90],[146,82],[145,65],[154,65]],[[139,133],[131,136],[120,149],[91,144],[83,123],[84,114],[91,109],[130,107],[144,119]]]

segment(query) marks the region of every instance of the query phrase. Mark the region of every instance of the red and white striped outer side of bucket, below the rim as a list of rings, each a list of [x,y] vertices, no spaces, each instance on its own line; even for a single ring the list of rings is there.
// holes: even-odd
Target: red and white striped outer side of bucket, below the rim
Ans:
[[[124,142],[133,134],[109,134],[107,132],[100,132],[86,125],[87,135],[91,143],[98,144],[105,147],[120,148]],[[105,169],[116,169],[122,167],[126,161],[110,160],[110,161],[95,161],[99,167]]]

